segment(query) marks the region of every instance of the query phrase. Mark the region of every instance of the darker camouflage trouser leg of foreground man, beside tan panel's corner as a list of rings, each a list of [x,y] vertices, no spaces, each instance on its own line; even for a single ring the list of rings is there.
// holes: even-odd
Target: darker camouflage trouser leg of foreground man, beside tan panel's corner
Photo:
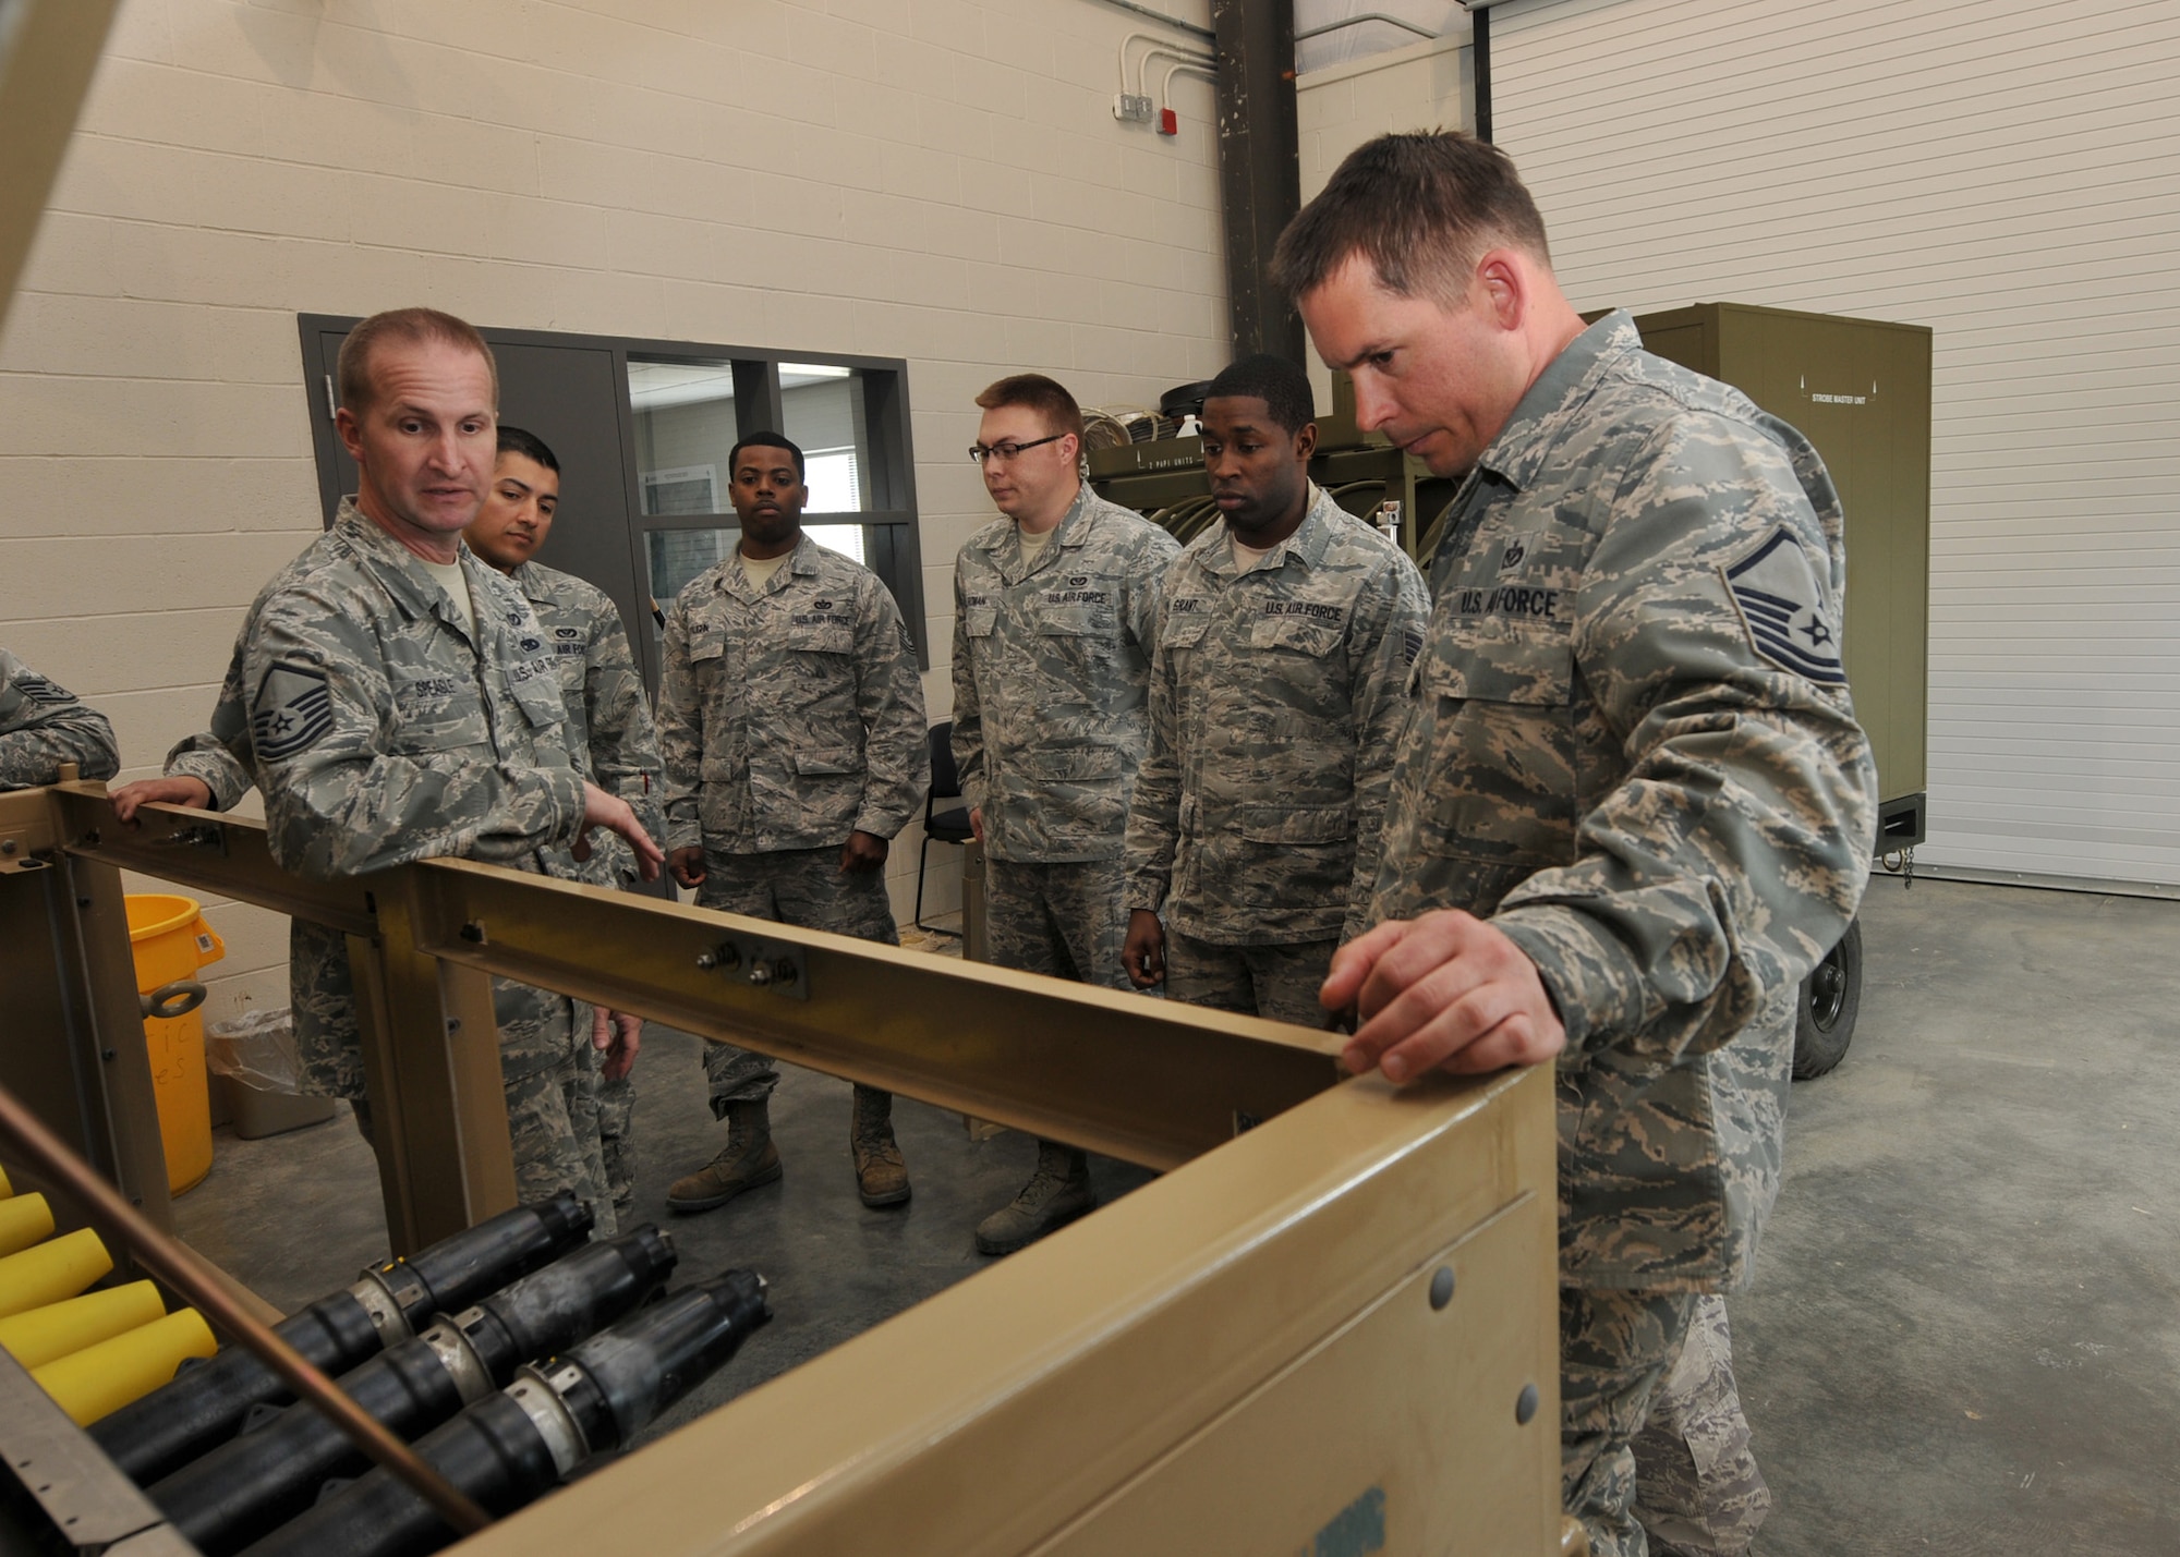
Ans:
[[[1646,1557],[1635,1439],[1681,1356],[1696,1293],[1559,1289],[1559,1498],[1591,1557]]]

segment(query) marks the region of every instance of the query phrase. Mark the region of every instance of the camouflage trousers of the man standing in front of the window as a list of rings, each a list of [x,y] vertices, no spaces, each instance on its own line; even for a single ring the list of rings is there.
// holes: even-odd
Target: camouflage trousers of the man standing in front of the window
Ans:
[[[726,914],[900,944],[885,872],[844,872],[837,846],[780,848],[770,855],[722,855],[706,846],[704,883],[695,890],[695,901],[698,907]],[[728,1103],[763,1103],[780,1084],[772,1055],[724,1042],[704,1045],[704,1075],[711,1082],[713,1119],[726,1119]]]

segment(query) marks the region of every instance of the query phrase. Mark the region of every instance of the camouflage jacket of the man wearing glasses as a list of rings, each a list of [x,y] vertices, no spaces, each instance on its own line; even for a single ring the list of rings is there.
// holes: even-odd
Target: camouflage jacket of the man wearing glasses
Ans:
[[[992,859],[1118,859],[1151,744],[1158,591],[1179,554],[1149,519],[1081,488],[1022,563],[1014,519],[955,558],[955,763]]]

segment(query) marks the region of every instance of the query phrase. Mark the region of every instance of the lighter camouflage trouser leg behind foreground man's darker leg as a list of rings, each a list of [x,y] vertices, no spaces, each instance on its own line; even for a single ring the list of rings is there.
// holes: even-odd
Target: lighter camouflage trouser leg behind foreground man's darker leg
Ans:
[[[1727,1300],[1707,1293],[1635,1439],[1635,1518],[1652,1553],[1740,1557],[1770,1502],[1733,1385]]]

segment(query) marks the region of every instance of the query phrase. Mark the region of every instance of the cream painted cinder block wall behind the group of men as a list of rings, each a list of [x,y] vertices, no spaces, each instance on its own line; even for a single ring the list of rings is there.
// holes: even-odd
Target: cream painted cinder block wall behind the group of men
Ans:
[[[974,393],[1036,369],[1155,403],[1227,360],[1210,83],[1173,81],[1177,137],[1112,118],[1144,26],[1097,0],[124,0],[0,336],[0,643],[157,772],[320,528],[294,316],[432,303],[907,358],[946,717],[953,554],[990,517]],[[900,918],[913,870],[911,826]],[[933,881],[950,909],[953,850]],[[209,918],[207,1014],[286,1003],[281,920]]]

